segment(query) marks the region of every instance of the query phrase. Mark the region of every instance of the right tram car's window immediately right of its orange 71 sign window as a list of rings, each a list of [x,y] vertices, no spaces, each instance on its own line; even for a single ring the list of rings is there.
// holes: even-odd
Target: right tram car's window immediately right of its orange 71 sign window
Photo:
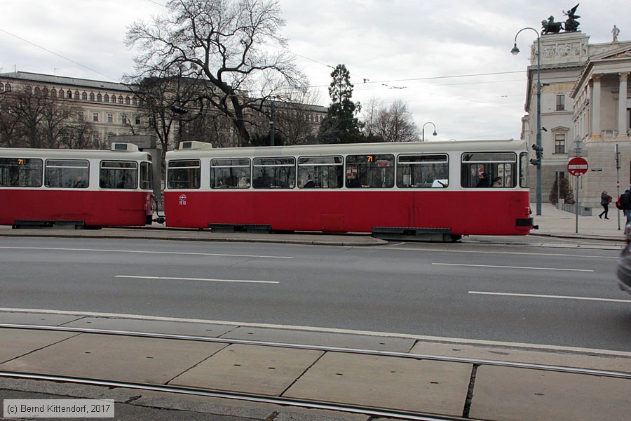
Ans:
[[[447,155],[400,155],[397,157],[397,187],[445,188],[449,185]]]

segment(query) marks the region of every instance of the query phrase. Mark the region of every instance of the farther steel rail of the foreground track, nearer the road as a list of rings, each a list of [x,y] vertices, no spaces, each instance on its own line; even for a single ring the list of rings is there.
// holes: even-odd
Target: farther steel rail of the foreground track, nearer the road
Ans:
[[[445,362],[451,362],[451,363],[470,363],[476,366],[501,366],[501,367],[509,367],[509,368],[525,368],[529,370],[556,371],[559,373],[596,375],[596,376],[602,376],[602,377],[614,377],[614,378],[631,380],[631,373],[625,373],[625,372],[620,372],[620,371],[595,370],[592,368],[576,368],[576,367],[567,367],[567,366],[551,366],[548,364],[538,364],[538,363],[516,363],[513,361],[475,359],[475,358],[466,358],[466,357],[458,357],[458,356],[412,354],[409,352],[380,351],[378,349],[327,347],[323,345],[292,344],[292,343],[285,343],[285,342],[268,342],[268,341],[261,341],[261,340],[230,339],[230,338],[210,338],[207,336],[178,335],[178,334],[172,334],[172,333],[151,333],[151,332],[137,332],[133,330],[112,330],[112,329],[97,329],[97,328],[72,328],[69,326],[44,326],[44,325],[19,324],[19,323],[0,323],[0,328],[53,330],[53,331],[61,331],[61,332],[92,333],[92,334],[100,334],[100,335],[134,336],[138,338],[192,340],[192,341],[198,341],[198,342],[214,342],[214,343],[224,343],[224,344],[260,345],[260,346],[266,346],[266,347],[281,347],[281,348],[291,348],[291,349],[311,349],[311,350],[323,351],[323,352],[344,352],[347,354],[393,356],[393,357],[398,357],[398,358],[426,359],[426,360],[433,360],[433,361],[445,361]]]

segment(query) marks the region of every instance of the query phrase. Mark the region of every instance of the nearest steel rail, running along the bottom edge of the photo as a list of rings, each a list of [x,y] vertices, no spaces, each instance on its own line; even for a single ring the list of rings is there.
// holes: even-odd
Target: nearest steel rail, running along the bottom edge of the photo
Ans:
[[[417,420],[417,421],[471,421],[472,418],[450,417],[448,415],[435,415],[428,413],[418,413],[405,410],[381,410],[371,408],[369,406],[344,405],[340,403],[323,403],[315,401],[306,401],[301,399],[282,398],[263,396],[259,394],[247,394],[236,392],[222,392],[211,389],[200,389],[196,387],[167,386],[167,385],[151,385],[149,383],[121,382],[115,380],[90,379],[87,377],[73,377],[65,375],[47,375],[37,373],[22,373],[17,371],[0,370],[0,377],[11,377],[28,380],[47,380],[51,382],[66,382],[78,385],[104,386],[104,387],[122,387],[125,389],[147,390],[151,392],[166,392],[177,394],[189,394],[195,396],[204,396],[219,399],[235,399],[239,401],[248,401],[255,403],[271,403],[281,406],[298,406],[300,408],[334,410],[344,413],[354,413],[362,415],[370,415],[372,417],[398,418],[400,420]]]

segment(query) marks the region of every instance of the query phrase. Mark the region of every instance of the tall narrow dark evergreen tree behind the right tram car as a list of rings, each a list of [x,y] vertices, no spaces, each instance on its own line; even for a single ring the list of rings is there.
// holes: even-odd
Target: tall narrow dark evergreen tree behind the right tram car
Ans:
[[[320,125],[318,139],[320,143],[356,143],[362,142],[360,121],[356,115],[360,112],[359,102],[355,104],[351,74],[344,65],[337,65],[331,73],[333,81],[329,87],[331,105],[329,112]]]

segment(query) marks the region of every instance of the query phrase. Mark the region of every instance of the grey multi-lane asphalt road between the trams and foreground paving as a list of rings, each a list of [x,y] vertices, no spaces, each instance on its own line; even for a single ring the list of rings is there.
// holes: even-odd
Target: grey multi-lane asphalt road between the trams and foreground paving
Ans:
[[[628,351],[613,248],[0,239],[0,307]]]

